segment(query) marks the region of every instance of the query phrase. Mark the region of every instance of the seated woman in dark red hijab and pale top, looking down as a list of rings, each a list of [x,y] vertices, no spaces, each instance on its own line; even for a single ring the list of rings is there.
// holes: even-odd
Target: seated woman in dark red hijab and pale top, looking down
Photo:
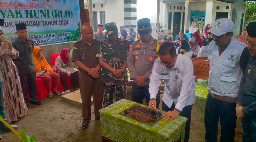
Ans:
[[[60,74],[65,93],[70,93],[70,90],[68,89],[68,76],[71,77],[73,87],[79,89],[78,70],[75,68],[75,63],[72,62],[72,56],[70,56],[69,49],[64,48],[61,50],[60,55],[55,60],[55,65]]]

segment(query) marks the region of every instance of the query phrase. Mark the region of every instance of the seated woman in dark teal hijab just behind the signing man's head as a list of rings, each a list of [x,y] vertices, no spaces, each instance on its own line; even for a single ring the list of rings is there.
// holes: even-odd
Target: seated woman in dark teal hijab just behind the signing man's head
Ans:
[[[188,42],[186,40],[180,41],[180,47],[176,49],[176,52],[178,54],[187,55],[189,58],[191,58],[193,55],[193,51],[189,47]]]

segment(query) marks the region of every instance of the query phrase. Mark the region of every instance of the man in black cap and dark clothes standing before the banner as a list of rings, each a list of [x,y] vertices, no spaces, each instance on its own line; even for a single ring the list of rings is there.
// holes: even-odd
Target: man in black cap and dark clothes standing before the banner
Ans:
[[[36,67],[32,57],[34,42],[28,38],[28,30],[24,23],[15,26],[18,38],[12,41],[12,46],[19,51],[19,57],[14,59],[13,62],[19,71],[24,100],[28,106],[27,86],[29,84],[30,103],[42,105],[40,101],[37,101]]]

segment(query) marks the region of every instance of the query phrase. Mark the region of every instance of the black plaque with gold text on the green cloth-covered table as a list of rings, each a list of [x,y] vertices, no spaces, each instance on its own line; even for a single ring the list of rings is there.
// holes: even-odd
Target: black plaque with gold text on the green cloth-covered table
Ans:
[[[120,114],[151,126],[162,118],[161,112],[136,104],[122,111]]]

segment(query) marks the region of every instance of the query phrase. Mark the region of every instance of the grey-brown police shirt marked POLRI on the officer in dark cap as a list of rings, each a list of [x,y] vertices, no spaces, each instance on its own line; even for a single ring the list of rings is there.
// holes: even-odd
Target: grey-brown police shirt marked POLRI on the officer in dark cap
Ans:
[[[158,49],[162,42],[156,39],[150,39],[150,43],[146,46],[142,44],[142,40],[137,40],[132,43],[132,47],[128,52],[128,69],[130,78],[133,79],[138,76],[145,75],[146,82],[149,84],[149,77],[152,72],[154,61],[158,58]]]

